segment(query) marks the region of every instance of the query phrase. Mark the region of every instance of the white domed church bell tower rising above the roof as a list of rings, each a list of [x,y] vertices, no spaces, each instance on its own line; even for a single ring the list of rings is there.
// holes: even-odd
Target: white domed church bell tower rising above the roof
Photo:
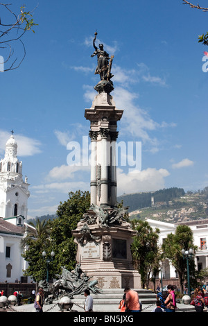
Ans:
[[[17,158],[17,142],[12,135],[6,142],[5,157],[0,160],[0,217],[15,225],[27,220],[27,178],[22,179],[22,164]]]

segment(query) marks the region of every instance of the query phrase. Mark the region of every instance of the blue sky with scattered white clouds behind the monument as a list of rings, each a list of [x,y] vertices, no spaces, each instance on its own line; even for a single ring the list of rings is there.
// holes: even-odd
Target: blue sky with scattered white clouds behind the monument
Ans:
[[[22,4],[13,2],[14,10]],[[24,3],[26,10],[37,6]],[[117,194],[208,185],[208,48],[198,44],[207,15],[182,0],[39,0],[35,34],[23,39],[26,58],[0,81],[0,156],[13,129],[31,184],[28,216],[54,214],[69,191],[89,190],[89,167],[67,164],[67,144],[82,146],[89,132],[85,108],[99,80],[90,56],[96,30],[96,44],[114,55],[112,96],[123,110],[118,141],[141,141],[141,171],[118,166]],[[21,46],[12,47],[21,58]]]

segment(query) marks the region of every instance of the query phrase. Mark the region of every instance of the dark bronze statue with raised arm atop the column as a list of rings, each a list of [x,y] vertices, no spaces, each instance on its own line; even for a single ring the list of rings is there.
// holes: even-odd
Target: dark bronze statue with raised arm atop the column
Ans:
[[[114,55],[111,55],[111,57],[109,57],[109,54],[103,49],[103,44],[99,44],[99,49],[97,48],[95,44],[97,34],[98,33],[94,33],[95,37],[93,40],[93,46],[95,51],[94,53],[92,53],[91,56],[94,57],[95,55],[97,55],[98,65],[94,74],[99,74],[101,80],[94,87],[94,89],[96,89],[98,93],[105,92],[107,94],[110,94],[110,92],[112,92],[112,90],[114,89],[112,80],[110,80],[113,77],[113,75],[111,74],[111,67]]]

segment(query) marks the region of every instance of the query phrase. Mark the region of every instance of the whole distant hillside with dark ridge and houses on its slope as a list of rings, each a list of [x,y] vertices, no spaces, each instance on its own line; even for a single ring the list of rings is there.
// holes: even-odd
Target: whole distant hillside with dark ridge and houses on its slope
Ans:
[[[151,200],[151,198],[153,200]],[[186,222],[208,218],[208,187],[198,191],[180,188],[119,196],[128,209],[130,219],[146,218],[168,223]]]

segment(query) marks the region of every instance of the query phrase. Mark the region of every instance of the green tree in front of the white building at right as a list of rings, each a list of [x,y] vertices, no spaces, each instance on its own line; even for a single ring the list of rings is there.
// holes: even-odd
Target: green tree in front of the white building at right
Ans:
[[[162,244],[164,257],[171,261],[171,264],[177,272],[181,293],[183,293],[184,279],[187,273],[187,262],[182,256],[182,249],[188,250],[190,248],[196,250],[197,246],[193,245],[193,232],[187,225],[178,225],[175,234],[168,234],[168,237],[166,237]],[[190,261],[190,263],[192,265],[189,270],[191,275],[195,268],[193,261]]]

